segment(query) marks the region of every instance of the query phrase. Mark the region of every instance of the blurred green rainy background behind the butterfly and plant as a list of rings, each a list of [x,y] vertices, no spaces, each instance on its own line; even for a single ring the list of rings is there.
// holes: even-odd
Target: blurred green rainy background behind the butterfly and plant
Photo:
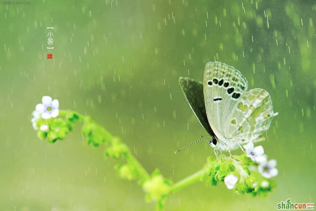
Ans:
[[[267,90],[279,115],[264,146],[278,161],[267,198],[196,183],[166,210],[274,210],[315,202],[316,4],[313,1],[30,1],[0,5],[1,210],[152,210],[136,182],[116,176],[119,161],[86,145],[80,126],[48,144],[33,130],[41,97],[91,115],[174,182],[199,170],[205,135],[178,84],[202,81],[208,61],[233,65],[249,89]],[[54,27],[54,49],[47,51]],[[44,49],[44,50],[43,50]],[[53,59],[46,59],[52,53]],[[80,61],[81,59],[81,61]],[[240,154],[240,151],[234,152]]]

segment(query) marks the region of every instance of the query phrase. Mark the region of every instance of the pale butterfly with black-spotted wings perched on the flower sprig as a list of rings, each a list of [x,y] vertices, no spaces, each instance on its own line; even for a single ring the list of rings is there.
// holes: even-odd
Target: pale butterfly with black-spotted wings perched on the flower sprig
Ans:
[[[217,150],[222,156],[222,151],[231,155],[230,150],[238,146],[244,151],[241,146],[249,141],[264,140],[261,134],[269,129],[272,118],[278,114],[272,110],[267,91],[247,91],[248,82],[240,71],[221,62],[205,65],[203,84],[182,77],[179,84],[197,119],[209,133],[209,137],[200,140],[208,140],[216,158]]]

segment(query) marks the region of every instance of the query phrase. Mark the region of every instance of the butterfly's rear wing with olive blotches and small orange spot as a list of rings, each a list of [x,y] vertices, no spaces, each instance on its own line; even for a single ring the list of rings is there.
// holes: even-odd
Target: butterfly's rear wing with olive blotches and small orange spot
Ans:
[[[264,139],[260,134],[270,127],[272,118],[278,114],[272,109],[272,100],[267,91],[247,91],[240,97],[226,122],[225,136],[239,143]]]

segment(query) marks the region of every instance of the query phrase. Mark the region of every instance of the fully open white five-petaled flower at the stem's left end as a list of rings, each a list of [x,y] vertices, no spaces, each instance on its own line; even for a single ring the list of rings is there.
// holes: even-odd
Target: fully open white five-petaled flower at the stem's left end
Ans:
[[[43,119],[56,117],[59,114],[59,102],[53,100],[50,96],[43,96],[42,103],[36,105],[35,110],[41,115]]]

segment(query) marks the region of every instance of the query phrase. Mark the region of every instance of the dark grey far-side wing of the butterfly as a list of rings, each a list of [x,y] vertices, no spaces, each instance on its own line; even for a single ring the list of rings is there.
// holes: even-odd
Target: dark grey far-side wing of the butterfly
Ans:
[[[214,135],[212,128],[207,120],[206,110],[205,110],[205,102],[203,96],[203,84],[198,83],[190,78],[182,78],[179,79],[179,84],[181,89],[185,95],[186,100],[189,102],[191,109],[196,115],[198,121],[200,121],[201,125],[204,129],[210,134]]]

